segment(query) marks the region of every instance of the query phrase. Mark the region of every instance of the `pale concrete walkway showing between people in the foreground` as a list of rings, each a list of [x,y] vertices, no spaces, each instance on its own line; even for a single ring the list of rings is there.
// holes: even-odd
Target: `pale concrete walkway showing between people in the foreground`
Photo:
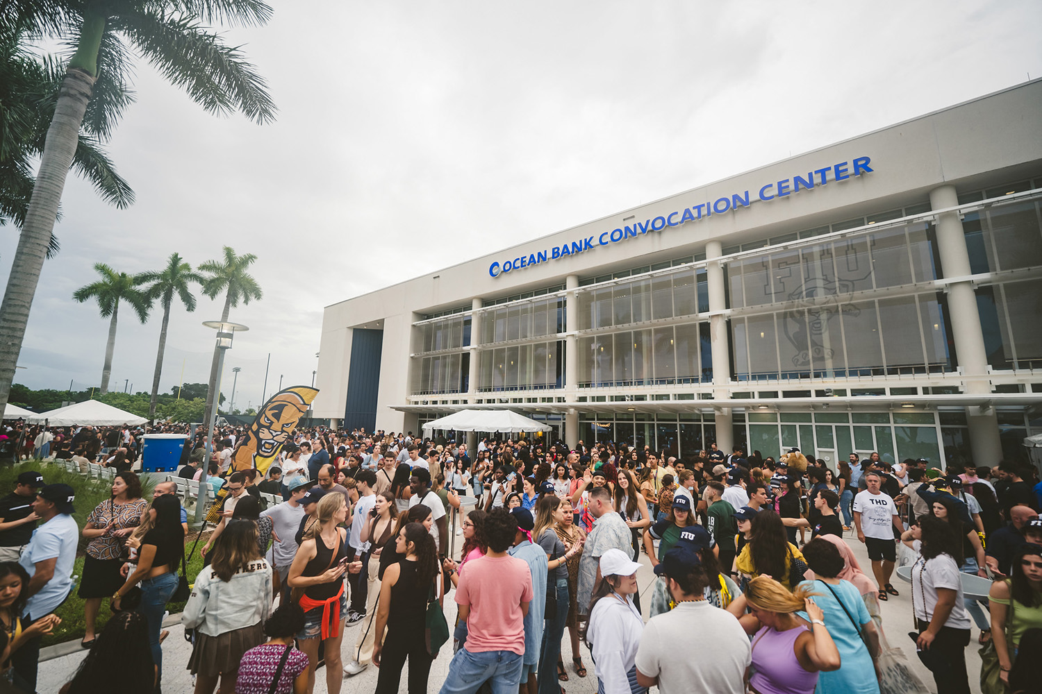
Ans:
[[[851,536],[852,533],[848,532],[846,533],[846,537],[844,539],[846,539],[853,548],[854,555],[858,557],[858,561],[861,563],[862,568],[867,571],[871,571],[871,565],[868,562],[868,555],[865,552],[864,545],[858,542],[855,536]],[[643,566],[638,572],[638,583],[641,587],[642,605],[644,606],[646,614],[647,607],[651,603],[651,586],[654,580],[654,574],[651,572],[647,557],[643,555],[641,556],[641,564]],[[905,636],[908,632],[913,631],[914,628],[910,586],[909,584],[899,581],[896,575],[894,576],[893,583],[894,587],[900,592],[900,595],[897,597],[891,596],[887,602],[882,603],[884,631],[890,641],[890,645],[899,647],[904,651],[910,664],[926,684],[929,691],[936,692],[937,689],[934,686],[934,680],[929,671],[926,670],[926,668],[919,662],[919,659],[915,654],[915,644],[908,638],[908,636]],[[451,595],[452,594],[450,593],[449,599],[445,601],[445,617],[448,620],[450,627],[455,622],[456,614],[455,602],[451,599]],[[189,657],[192,653],[192,646],[184,641],[184,631],[180,626],[177,617],[172,617],[171,621],[176,623],[169,626],[170,636],[163,644],[163,692],[164,694],[191,694],[195,691],[194,684],[192,682],[192,675],[184,669],[184,666],[188,664]],[[350,625],[344,631],[345,646],[343,650],[345,653],[348,652],[349,648],[353,647],[354,642],[363,628],[363,624],[365,624],[365,620],[358,622],[357,624]],[[695,637],[697,635],[698,625],[692,624],[692,636]],[[967,670],[969,672],[970,690],[972,692],[981,691],[978,685],[981,658],[977,656],[977,649],[979,648],[976,643],[977,636],[978,632],[974,626],[972,641],[966,651]],[[693,641],[693,643],[696,643],[696,641]],[[72,649],[73,652],[69,652],[70,649]],[[568,694],[594,694],[597,691],[597,678],[594,674],[593,662],[591,661],[589,653],[586,652],[586,648],[582,648],[582,662],[589,672],[584,679],[578,678],[571,667],[571,647],[569,645],[567,632],[565,633],[563,649],[564,660],[569,672],[569,682],[562,683],[564,689],[568,692]],[[48,652],[44,653],[45,658],[48,656],[58,657],[41,663],[38,687],[41,692],[56,692],[61,685],[72,677],[76,668],[79,666],[79,663],[82,661],[85,651],[77,648],[75,644],[52,646],[51,649],[47,649],[47,651]],[[66,654],[59,654],[63,652]],[[451,646],[449,644],[443,646],[442,653],[433,662],[433,665],[430,668],[430,678],[427,687],[428,692],[438,692],[441,688],[441,684],[444,682],[448,672],[451,654]],[[343,692],[343,694],[370,694],[376,689],[377,675],[378,669],[370,666],[363,673],[355,675],[354,677],[345,678],[341,692]],[[406,673],[404,671],[402,672],[399,691],[406,691]],[[325,683],[325,670],[319,670],[317,673],[315,692],[317,694],[327,694],[328,692]]]

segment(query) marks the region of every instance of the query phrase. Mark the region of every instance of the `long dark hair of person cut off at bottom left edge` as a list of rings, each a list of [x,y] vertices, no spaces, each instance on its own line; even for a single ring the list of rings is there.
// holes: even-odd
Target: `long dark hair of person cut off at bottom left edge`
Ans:
[[[163,497],[160,497],[163,498]],[[118,677],[113,673],[119,672]],[[110,694],[155,689],[155,663],[148,645],[148,622],[140,612],[117,612],[69,683],[69,694],[93,694],[98,684]]]

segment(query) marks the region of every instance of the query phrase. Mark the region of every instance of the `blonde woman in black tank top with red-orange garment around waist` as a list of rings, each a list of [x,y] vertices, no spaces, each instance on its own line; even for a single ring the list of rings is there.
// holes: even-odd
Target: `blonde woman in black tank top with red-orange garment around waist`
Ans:
[[[347,619],[347,592],[344,574],[357,572],[361,562],[347,563],[347,532],[339,528],[347,519],[343,494],[326,494],[319,499],[316,522],[304,536],[290,565],[287,584],[294,590],[304,611],[304,628],[297,634],[300,649],[307,654],[307,689],[315,688],[315,667],[319,643],[325,643],[326,686],[330,694],[340,694],[344,671],[341,668],[340,643]],[[302,595],[297,595],[302,590]]]

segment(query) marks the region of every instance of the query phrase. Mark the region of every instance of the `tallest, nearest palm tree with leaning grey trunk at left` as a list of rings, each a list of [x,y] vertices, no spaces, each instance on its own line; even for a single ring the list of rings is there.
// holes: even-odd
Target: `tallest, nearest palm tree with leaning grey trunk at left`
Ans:
[[[257,123],[267,123],[274,118],[275,105],[264,79],[238,47],[227,46],[207,25],[259,26],[268,22],[271,12],[260,0],[0,2],[0,23],[10,26],[14,17],[46,38],[76,44],[47,130],[0,305],[0,408],[7,403],[80,129],[85,125],[102,137],[111,133],[129,103],[131,48],[207,111],[225,114],[239,110]],[[99,66],[103,68],[100,71]]]

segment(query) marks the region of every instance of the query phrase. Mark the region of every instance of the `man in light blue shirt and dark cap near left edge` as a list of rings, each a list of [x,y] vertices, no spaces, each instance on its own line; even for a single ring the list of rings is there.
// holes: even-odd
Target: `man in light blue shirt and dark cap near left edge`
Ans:
[[[32,532],[32,539],[18,562],[29,574],[29,585],[23,589],[29,596],[22,609],[23,628],[54,612],[72,591],[73,564],[79,543],[79,528],[71,515],[75,498],[72,487],[57,484],[45,486],[32,503],[32,512],[42,522]],[[15,684],[29,692],[36,691],[36,663],[42,640],[42,635],[29,639],[11,658]]]

